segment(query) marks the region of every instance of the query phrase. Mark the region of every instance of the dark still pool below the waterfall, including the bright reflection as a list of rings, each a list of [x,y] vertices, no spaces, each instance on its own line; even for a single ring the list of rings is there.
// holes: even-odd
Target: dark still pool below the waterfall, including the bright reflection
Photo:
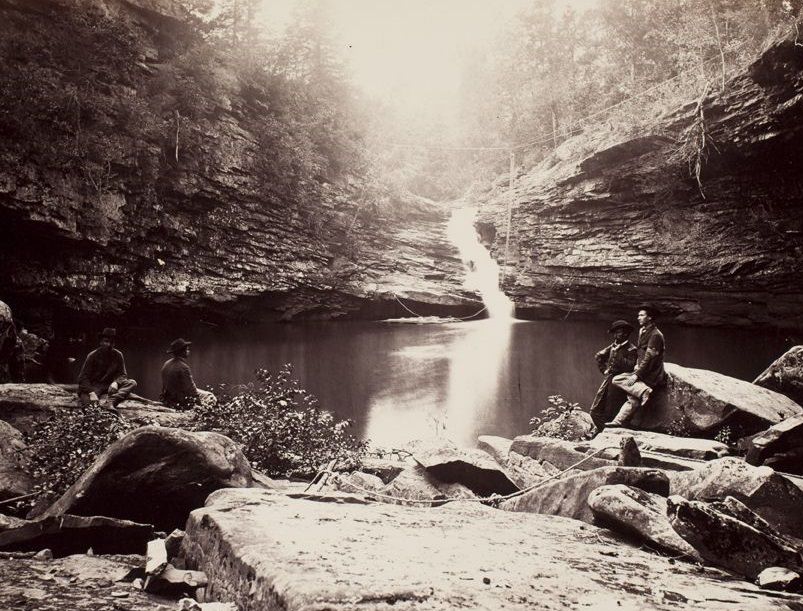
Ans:
[[[668,361],[744,380],[784,350],[780,333],[662,329]],[[256,368],[278,370],[292,363],[322,407],[352,419],[359,436],[394,445],[433,435],[473,444],[480,434],[522,434],[552,394],[587,409],[601,378],[593,355],[606,345],[605,331],[597,322],[489,319],[205,327],[181,333],[193,340],[189,361],[199,386],[243,383]],[[159,370],[172,339],[147,334],[119,346],[140,394],[158,397]]]

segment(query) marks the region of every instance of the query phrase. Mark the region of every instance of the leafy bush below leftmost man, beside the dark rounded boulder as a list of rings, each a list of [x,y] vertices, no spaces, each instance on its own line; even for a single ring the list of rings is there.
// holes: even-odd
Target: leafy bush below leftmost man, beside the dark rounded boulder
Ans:
[[[103,450],[138,426],[95,406],[66,410],[37,425],[25,439],[36,490],[61,495]]]

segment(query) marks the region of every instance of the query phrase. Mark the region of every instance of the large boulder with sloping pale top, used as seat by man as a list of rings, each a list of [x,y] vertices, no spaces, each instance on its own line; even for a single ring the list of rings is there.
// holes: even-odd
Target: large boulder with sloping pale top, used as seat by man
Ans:
[[[755,432],[803,413],[789,397],[721,373],[674,363],[666,372],[666,386],[636,412],[632,428],[697,436],[733,421]]]

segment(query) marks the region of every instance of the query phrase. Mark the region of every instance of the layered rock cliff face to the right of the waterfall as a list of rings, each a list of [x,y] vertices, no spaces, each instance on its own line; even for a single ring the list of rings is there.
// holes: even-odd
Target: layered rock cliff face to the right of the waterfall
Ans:
[[[505,291],[524,317],[803,328],[803,47],[771,47],[702,104],[702,193],[678,150],[694,101],[636,136],[580,135],[514,193]],[[504,257],[508,195],[480,229]]]

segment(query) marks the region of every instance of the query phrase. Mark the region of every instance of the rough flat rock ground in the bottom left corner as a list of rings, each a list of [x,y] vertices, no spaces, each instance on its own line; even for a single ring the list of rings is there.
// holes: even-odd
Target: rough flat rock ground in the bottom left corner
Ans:
[[[36,611],[176,611],[174,600],[120,581],[142,556],[56,560],[0,559],[0,609]]]

